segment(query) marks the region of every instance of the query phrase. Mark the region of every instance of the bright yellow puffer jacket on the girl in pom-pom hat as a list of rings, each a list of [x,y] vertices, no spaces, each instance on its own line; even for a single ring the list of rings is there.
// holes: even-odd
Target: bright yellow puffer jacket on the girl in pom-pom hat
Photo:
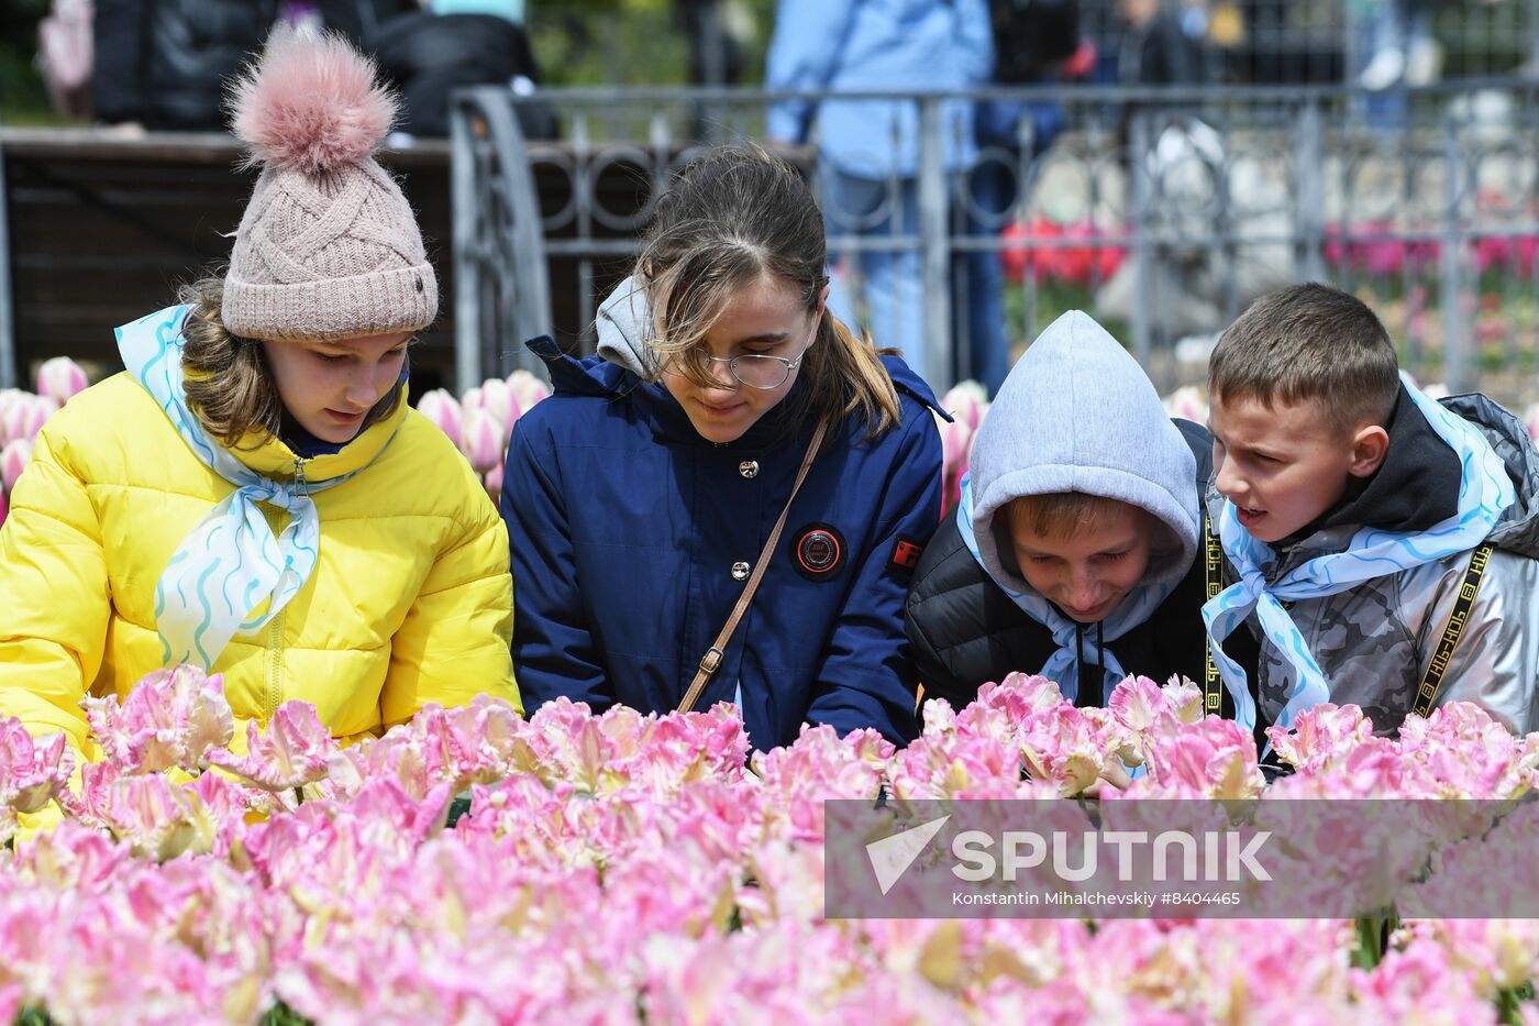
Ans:
[[[394,436],[394,438],[392,438]],[[274,479],[295,456],[263,433],[235,453]],[[315,570],[212,670],[237,719],[312,702],[343,743],[477,693],[519,704],[508,536],[449,439],[402,402],[342,451],[305,461]],[[66,732],[86,758],[80,699],[126,695],[160,669],[155,582],[188,531],[234,490],[129,374],[88,388],[43,428],[0,528],[0,715]],[[262,507],[274,535],[288,515]],[[237,736],[243,733],[237,724]]]

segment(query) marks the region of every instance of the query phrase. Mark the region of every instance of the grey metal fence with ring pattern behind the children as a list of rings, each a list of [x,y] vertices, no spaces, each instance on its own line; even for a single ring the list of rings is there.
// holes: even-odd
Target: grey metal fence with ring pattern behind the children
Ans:
[[[1485,387],[1510,404],[1533,397],[1539,83],[1516,79],[1391,97],[465,92],[454,111],[460,382],[531,365],[522,342],[534,334],[591,345],[597,303],[626,274],[669,176],[702,145],[763,139],[773,103],[836,99],[863,99],[873,119],[896,126],[870,166],[913,145],[913,174],[879,174],[863,202],[845,206],[830,140],[814,132],[780,153],[823,203],[848,310],[866,324],[886,313],[900,333],[920,327],[911,334],[936,387],[976,376],[999,345],[1019,353],[1057,313],[1085,308],[1171,388],[1200,379],[1213,336],[1251,299],[1320,279],[1368,300],[1424,382]],[[529,102],[557,114],[559,140],[522,137],[514,109]],[[968,114],[983,108],[1023,116],[965,153],[977,142]],[[1048,142],[1053,126],[1062,129]],[[871,254],[917,282],[911,320],[862,302]],[[990,302],[997,330],[977,316]]]

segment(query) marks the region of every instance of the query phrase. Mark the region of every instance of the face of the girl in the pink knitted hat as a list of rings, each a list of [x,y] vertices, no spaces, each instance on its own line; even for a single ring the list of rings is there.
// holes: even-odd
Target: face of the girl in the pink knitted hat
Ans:
[[[323,442],[351,442],[400,382],[409,333],[337,342],[263,342],[283,408]]]

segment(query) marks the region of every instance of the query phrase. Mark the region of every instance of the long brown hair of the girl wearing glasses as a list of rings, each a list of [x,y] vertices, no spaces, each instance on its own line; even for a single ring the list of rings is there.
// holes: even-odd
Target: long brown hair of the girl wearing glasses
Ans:
[[[636,274],[653,311],[653,348],[702,387],[705,334],[737,290],[763,276],[790,282],[808,311],[828,283],[828,245],[813,191],[759,146],[719,148],[685,166],[657,200]],[[806,416],[851,413],[874,438],[902,422],[897,388],[870,339],[823,311],[796,402]]]

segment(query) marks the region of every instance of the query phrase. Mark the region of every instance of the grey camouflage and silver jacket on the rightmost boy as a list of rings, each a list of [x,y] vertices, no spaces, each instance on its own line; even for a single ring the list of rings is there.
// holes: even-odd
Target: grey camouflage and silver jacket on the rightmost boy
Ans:
[[[1539,730],[1534,701],[1539,682],[1539,453],[1522,424],[1485,396],[1453,396],[1442,402],[1482,428],[1507,464],[1517,501],[1487,538],[1496,552],[1448,661],[1437,704],[1473,701],[1514,732]],[[1427,434],[1431,428],[1414,410],[1407,416],[1400,407],[1390,425],[1390,451],[1393,456],[1399,450],[1400,459],[1387,459],[1364,495],[1337,505],[1304,538],[1279,544],[1279,559],[1268,570],[1268,581],[1314,556],[1344,552],[1365,524],[1425,530],[1451,511],[1459,488],[1459,461],[1447,445],[1442,462],[1428,465],[1419,459],[1430,451]],[[1441,444],[1436,436],[1433,439]],[[1211,478],[1207,502],[1217,519],[1224,498]],[[1470,552],[1448,556],[1291,607],[1294,624],[1331,682],[1333,702],[1360,706],[1379,733],[1399,727],[1448,624],[1470,556]],[[1254,616],[1247,625],[1260,635]],[[1251,689],[1259,721],[1276,721],[1293,690],[1293,669],[1265,638]]]

